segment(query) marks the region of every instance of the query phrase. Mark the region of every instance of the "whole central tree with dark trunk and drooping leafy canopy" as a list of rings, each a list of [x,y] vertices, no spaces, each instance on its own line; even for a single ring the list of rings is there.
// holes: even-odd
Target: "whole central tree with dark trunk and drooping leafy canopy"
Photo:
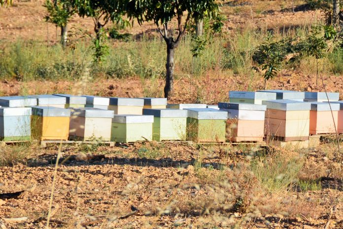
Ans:
[[[144,21],[153,21],[166,42],[166,85],[165,97],[173,92],[174,80],[174,50],[186,32],[191,18],[200,21],[204,17],[212,17],[219,12],[219,5],[215,0],[125,0],[125,11],[129,18],[136,18],[141,25]],[[176,38],[169,32],[170,22],[176,19]]]

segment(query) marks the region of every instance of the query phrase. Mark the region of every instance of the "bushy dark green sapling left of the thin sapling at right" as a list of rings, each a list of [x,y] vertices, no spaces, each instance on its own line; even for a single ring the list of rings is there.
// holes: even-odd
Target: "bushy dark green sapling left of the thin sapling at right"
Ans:
[[[290,42],[290,39],[275,41],[274,36],[269,34],[254,50],[252,59],[261,66],[262,70],[265,70],[263,75],[265,81],[277,75],[285,56],[291,51]]]

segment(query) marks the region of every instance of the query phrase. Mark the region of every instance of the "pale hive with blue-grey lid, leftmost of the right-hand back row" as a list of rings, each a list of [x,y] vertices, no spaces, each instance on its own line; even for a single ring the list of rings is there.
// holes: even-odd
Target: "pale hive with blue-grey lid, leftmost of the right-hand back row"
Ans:
[[[275,100],[276,93],[262,91],[229,91],[230,103],[262,104],[265,100]]]

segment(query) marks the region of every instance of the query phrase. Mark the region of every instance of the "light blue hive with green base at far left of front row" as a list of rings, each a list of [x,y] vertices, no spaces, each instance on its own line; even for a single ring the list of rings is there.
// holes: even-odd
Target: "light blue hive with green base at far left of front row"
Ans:
[[[31,140],[31,108],[0,108],[0,140]]]

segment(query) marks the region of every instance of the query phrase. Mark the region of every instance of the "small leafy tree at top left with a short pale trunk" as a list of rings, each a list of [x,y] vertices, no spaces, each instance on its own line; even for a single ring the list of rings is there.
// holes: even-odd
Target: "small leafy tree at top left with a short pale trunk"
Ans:
[[[65,48],[67,45],[68,22],[76,9],[69,0],[46,0],[43,5],[48,10],[45,16],[47,22],[53,23],[61,28],[61,44]]]

